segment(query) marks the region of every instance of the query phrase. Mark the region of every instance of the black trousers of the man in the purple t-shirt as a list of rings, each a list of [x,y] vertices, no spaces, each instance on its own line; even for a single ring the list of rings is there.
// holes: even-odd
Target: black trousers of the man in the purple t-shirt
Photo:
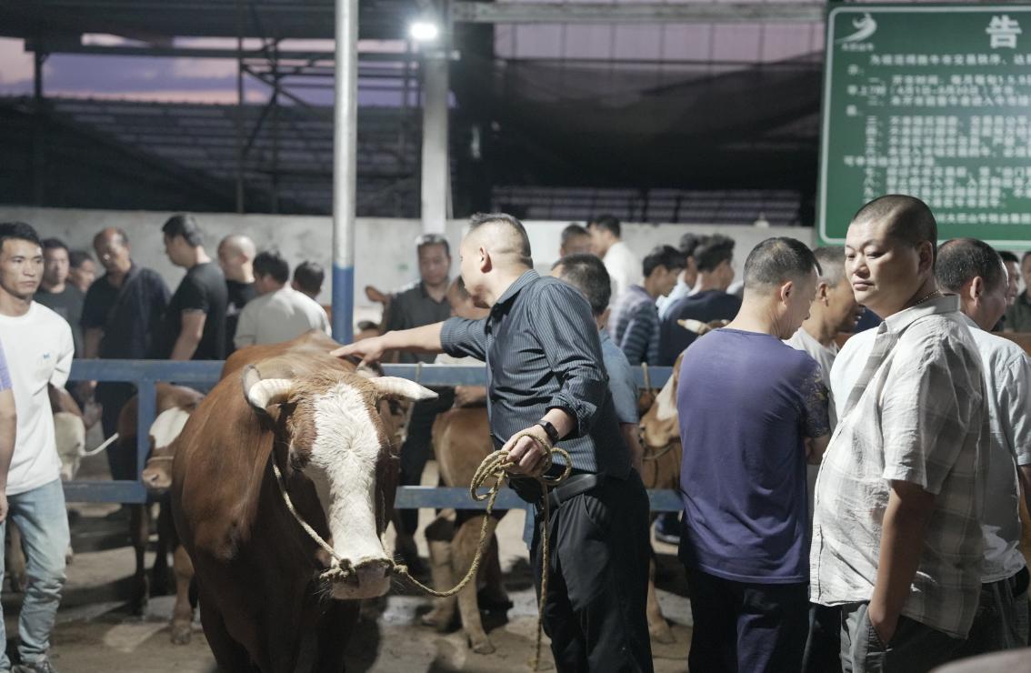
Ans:
[[[809,585],[735,582],[688,567],[688,669],[704,673],[784,673],[802,667]]]

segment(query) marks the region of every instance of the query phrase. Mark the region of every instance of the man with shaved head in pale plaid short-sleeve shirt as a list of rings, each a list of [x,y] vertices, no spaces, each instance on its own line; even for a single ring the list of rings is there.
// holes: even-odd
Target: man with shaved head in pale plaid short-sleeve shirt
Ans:
[[[928,671],[977,609],[989,427],[980,357],[934,279],[922,201],[864,206],[845,237],[856,299],[885,323],[831,370],[838,425],[816,489],[810,600],[841,606],[841,664]]]

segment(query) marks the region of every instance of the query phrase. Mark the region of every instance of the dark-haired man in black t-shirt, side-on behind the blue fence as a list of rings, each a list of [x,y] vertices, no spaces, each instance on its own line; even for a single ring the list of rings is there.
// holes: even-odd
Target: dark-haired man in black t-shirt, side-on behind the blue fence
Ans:
[[[204,251],[204,238],[190,214],[162,227],[165,254],[187,275],[165,310],[155,357],[167,360],[223,360],[226,357],[226,276]]]

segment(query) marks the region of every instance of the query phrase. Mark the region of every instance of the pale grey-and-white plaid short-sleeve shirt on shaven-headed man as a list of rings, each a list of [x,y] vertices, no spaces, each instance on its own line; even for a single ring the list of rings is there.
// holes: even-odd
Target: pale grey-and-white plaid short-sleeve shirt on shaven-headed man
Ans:
[[[813,602],[870,600],[891,481],[908,481],[936,498],[902,614],[966,637],[980,592],[990,451],[980,369],[957,297],[896,313],[845,343],[831,372],[839,422],[817,480]]]

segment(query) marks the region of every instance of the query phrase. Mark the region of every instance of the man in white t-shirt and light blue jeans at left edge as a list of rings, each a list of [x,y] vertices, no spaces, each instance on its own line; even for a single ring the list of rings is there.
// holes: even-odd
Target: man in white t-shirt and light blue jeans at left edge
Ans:
[[[0,493],[25,541],[29,584],[19,619],[22,663],[13,669],[22,673],[55,670],[47,651],[65,582],[69,542],[61,461],[46,386],[62,388],[67,381],[74,343],[68,323],[32,300],[42,273],[43,251],[35,230],[24,223],[0,224],[0,341],[18,410],[14,451],[9,468],[0,473]],[[6,458],[0,456],[0,463]],[[0,536],[4,527],[5,523],[0,524]],[[0,619],[0,672],[10,670],[6,642]]]

